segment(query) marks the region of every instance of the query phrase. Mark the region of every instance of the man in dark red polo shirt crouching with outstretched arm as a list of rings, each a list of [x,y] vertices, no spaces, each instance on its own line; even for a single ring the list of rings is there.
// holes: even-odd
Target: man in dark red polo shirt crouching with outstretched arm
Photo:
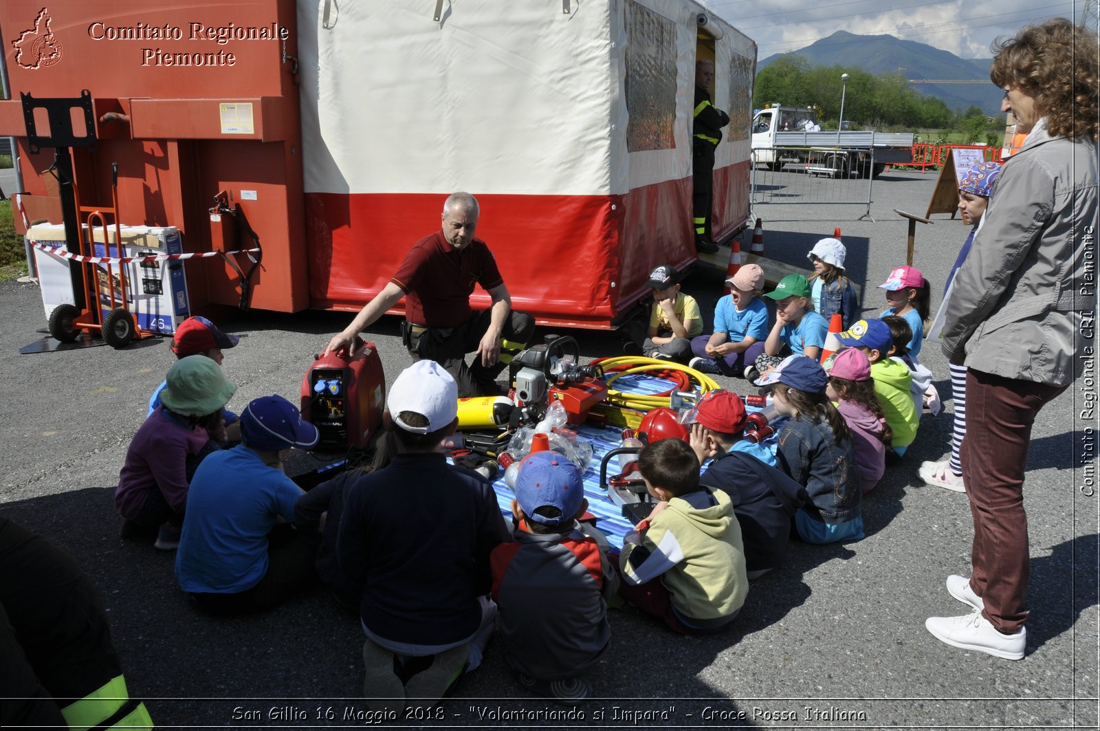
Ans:
[[[348,348],[402,297],[402,337],[413,360],[435,360],[454,377],[459,396],[496,395],[496,377],[527,347],[535,318],[513,312],[512,297],[493,252],[474,238],[480,208],[469,193],[443,204],[443,228],[417,241],[397,273],[366,303],[351,325],[333,336],[326,352]],[[493,304],[475,313],[470,295],[480,284]],[[474,353],[472,366],[465,356]]]

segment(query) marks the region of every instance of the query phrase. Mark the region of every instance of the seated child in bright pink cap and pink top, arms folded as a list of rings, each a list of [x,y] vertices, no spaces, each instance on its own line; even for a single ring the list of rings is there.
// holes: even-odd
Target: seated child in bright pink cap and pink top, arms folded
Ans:
[[[862,350],[845,348],[832,359],[825,395],[836,402],[836,410],[848,425],[860,489],[870,492],[886,472],[887,446],[893,434],[875,396],[871,361]]]

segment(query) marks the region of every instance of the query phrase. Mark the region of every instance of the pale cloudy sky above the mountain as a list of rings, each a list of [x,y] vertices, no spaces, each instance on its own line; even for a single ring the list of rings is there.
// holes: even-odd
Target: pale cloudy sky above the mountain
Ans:
[[[997,36],[1047,18],[1078,20],[1086,0],[698,0],[759,45],[759,58],[796,51],[848,31],[889,34],[950,51],[963,58],[989,58]]]

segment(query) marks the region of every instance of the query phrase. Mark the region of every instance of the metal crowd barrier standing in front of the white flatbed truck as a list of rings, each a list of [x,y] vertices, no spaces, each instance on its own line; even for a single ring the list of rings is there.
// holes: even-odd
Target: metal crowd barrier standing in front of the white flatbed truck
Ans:
[[[871,217],[873,148],[754,150],[752,205],[862,206]],[[767,162],[763,162],[767,161]]]

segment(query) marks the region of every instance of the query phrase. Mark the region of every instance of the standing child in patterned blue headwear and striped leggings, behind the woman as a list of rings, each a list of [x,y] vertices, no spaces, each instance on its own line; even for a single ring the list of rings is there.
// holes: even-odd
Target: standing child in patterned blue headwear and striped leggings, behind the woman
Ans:
[[[963,214],[963,222],[970,225],[966,241],[959,250],[959,255],[947,275],[944,284],[944,301],[939,305],[939,315],[935,321],[942,321],[942,315],[947,312],[947,303],[950,301],[952,283],[955,281],[955,272],[958,271],[967,254],[970,253],[970,246],[974,237],[981,228],[981,222],[986,217],[986,208],[989,206],[989,198],[993,195],[993,187],[997,178],[1001,174],[1001,163],[988,162],[978,163],[966,172],[959,181],[959,212]],[[933,332],[938,339],[938,332]],[[965,492],[963,487],[963,460],[959,450],[963,447],[963,437],[966,435],[966,366],[961,359],[948,362],[952,370],[952,401],[955,407],[955,418],[952,426],[952,454],[947,459],[939,461],[925,461],[917,470],[917,474],[925,484],[944,488],[953,492]]]

